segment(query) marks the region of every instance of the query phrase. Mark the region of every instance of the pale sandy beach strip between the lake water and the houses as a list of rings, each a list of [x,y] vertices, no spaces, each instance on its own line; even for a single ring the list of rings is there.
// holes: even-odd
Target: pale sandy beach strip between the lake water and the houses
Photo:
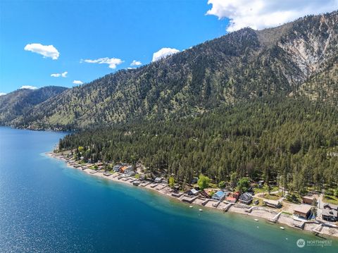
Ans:
[[[99,177],[99,178],[104,178],[106,180],[111,180],[116,183],[123,183],[124,185],[130,185],[130,186],[133,185],[132,184],[133,181],[137,181],[137,179],[135,178],[126,177],[125,175],[120,174],[120,173],[104,175],[103,171],[94,171],[91,168],[82,169],[83,166],[79,166],[75,168],[75,166],[69,164],[68,161],[66,161],[66,159],[54,154],[53,152],[46,152],[45,154],[53,159],[64,161],[67,164],[68,168],[77,169],[79,171],[87,173],[88,175],[95,175],[96,177]],[[177,202],[181,202],[181,203],[186,202],[184,201],[185,199],[184,199],[183,192],[181,192],[182,195],[180,195],[180,197],[174,197],[172,195],[173,191],[170,189],[170,187],[167,184],[160,183],[160,184],[156,184],[156,186],[154,185],[155,185],[154,183],[146,181],[144,183],[140,183],[139,186],[135,186],[135,187],[141,187],[146,190],[151,190],[151,192],[156,192],[158,195],[161,195],[164,197],[170,197],[170,199],[175,199],[175,201]],[[205,204],[206,200],[208,201]],[[227,204],[225,202],[218,204],[218,206],[213,206],[213,204],[215,204],[215,201],[213,201],[212,199],[202,199],[201,197],[196,197],[196,199],[194,199],[193,202],[186,202],[185,204],[190,204],[190,207],[199,206],[201,211],[203,211],[204,209],[211,209],[213,211],[224,212],[223,209],[227,207],[226,206]],[[234,214],[242,214],[247,217],[251,216],[254,218],[255,221],[259,221],[258,218],[262,218],[264,221],[270,224],[275,224],[276,226],[286,225],[287,228],[292,228],[294,230],[299,230],[299,231],[305,231],[306,233],[314,233],[315,235],[318,235],[321,238],[323,238],[323,236],[325,235],[325,239],[330,239],[330,238],[337,239],[338,238],[338,228],[328,228],[327,226],[322,226],[320,232],[314,232],[313,230],[317,228],[318,225],[320,224],[320,223],[315,223],[315,222],[306,223],[303,229],[296,228],[294,226],[294,219],[292,218],[292,216],[289,216],[287,214],[280,214],[276,222],[271,222],[270,220],[275,218],[275,216],[278,214],[278,210],[270,209],[270,208],[263,207],[263,206],[253,206],[253,209],[251,210],[251,212],[246,211],[250,207],[251,206],[246,206],[244,204],[232,204],[227,209],[227,212],[234,213]],[[282,227],[280,226],[280,228]],[[332,233],[332,230],[334,230],[334,233]]]

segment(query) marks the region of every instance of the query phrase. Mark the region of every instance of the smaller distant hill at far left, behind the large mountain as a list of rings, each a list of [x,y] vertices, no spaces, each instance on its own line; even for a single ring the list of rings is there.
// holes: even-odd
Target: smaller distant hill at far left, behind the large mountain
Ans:
[[[10,124],[11,121],[32,109],[33,106],[55,97],[67,90],[65,87],[42,87],[37,90],[20,89],[0,96],[0,124]]]

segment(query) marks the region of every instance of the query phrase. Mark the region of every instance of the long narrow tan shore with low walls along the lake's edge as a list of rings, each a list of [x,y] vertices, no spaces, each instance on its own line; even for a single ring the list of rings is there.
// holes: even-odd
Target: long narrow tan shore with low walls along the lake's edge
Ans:
[[[47,152],[48,156],[59,159],[62,161],[65,161],[67,163],[67,166],[69,168],[74,168],[80,171],[83,171],[84,173],[87,173],[89,175],[94,175],[100,178],[105,178],[108,180],[112,180],[114,182],[118,183],[125,183],[127,185],[133,185],[134,182],[137,181],[139,185],[137,187],[143,187],[147,190],[152,190],[154,192],[157,192],[160,195],[164,195],[165,197],[170,197],[172,199],[176,199],[180,202],[186,202],[190,206],[198,207],[200,211],[204,211],[206,209],[214,209],[218,211],[229,211],[236,214],[242,214],[246,216],[252,216],[255,221],[259,221],[258,218],[263,219],[266,222],[269,223],[275,223],[276,226],[279,226],[280,229],[286,229],[282,227],[281,225],[286,225],[289,228],[293,228],[296,230],[305,230],[307,232],[314,233],[315,235],[318,235],[319,237],[338,237],[338,228],[325,226],[323,223],[318,223],[315,221],[308,221],[303,225],[303,229],[296,228],[295,223],[297,221],[294,220],[294,218],[288,214],[283,214],[278,209],[268,208],[265,206],[248,206],[246,204],[230,204],[228,202],[216,202],[213,199],[205,199],[202,197],[192,197],[189,199],[186,195],[184,195],[184,192],[180,192],[179,195],[173,196],[173,190],[169,187],[166,183],[153,183],[149,180],[144,180],[142,182],[139,182],[136,178],[133,177],[127,177],[122,173],[105,173],[102,170],[95,171],[91,168],[87,168],[87,166],[78,166],[75,168],[75,166],[71,165],[61,156],[58,156],[54,154],[53,152]],[[85,167],[83,169],[83,167]],[[277,218],[276,218],[277,216]]]

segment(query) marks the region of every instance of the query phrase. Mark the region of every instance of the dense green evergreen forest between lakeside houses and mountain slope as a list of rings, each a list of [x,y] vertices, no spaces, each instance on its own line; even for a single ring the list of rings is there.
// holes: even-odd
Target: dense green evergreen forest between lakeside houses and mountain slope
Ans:
[[[84,159],[139,161],[182,185],[201,174],[230,181],[234,172],[296,192],[338,183],[338,111],[308,99],[255,99],[196,117],[85,130],[59,142],[61,150],[79,146]]]

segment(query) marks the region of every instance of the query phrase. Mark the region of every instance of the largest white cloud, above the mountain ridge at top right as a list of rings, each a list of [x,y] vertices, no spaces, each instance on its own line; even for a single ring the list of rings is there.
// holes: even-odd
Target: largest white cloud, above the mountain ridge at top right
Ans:
[[[310,14],[337,10],[338,0],[208,0],[207,15],[229,18],[228,32],[275,27]]]

